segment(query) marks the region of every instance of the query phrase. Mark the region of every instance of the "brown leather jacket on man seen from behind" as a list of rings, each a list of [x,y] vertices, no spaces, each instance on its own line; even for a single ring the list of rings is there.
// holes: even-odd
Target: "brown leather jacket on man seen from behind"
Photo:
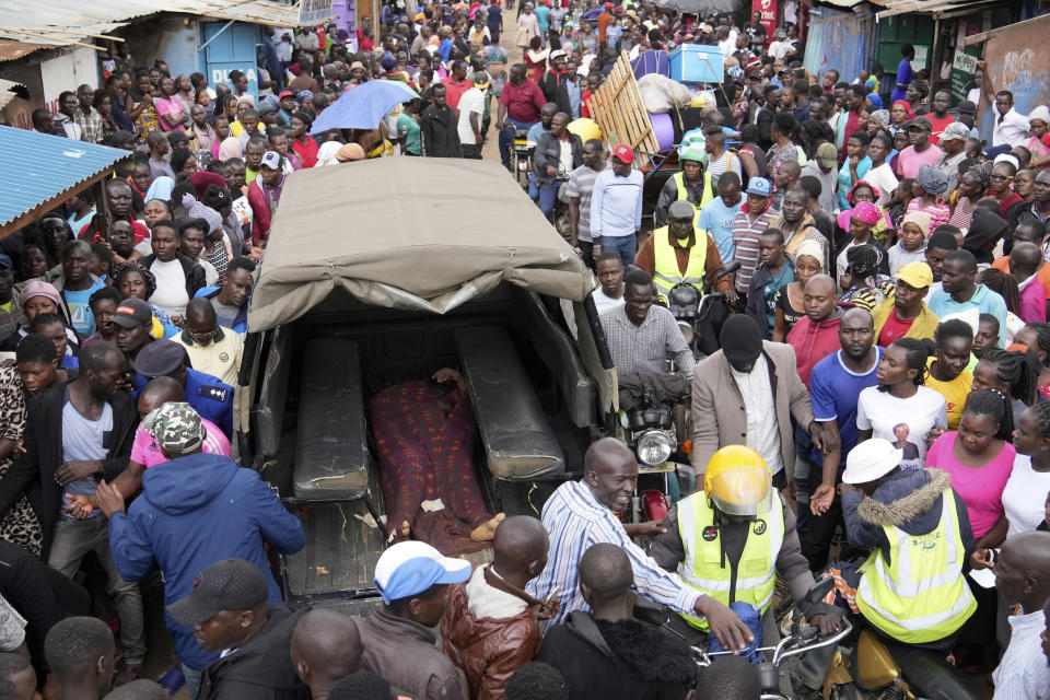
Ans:
[[[475,580],[487,593],[510,595],[485,584],[481,568],[475,570]],[[511,674],[536,655],[539,626],[528,607],[512,617],[477,617],[468,607],[470,583],[457,583],[448,592],[441,618],[445,654],[466,674],[471,700],[502,700]]]

